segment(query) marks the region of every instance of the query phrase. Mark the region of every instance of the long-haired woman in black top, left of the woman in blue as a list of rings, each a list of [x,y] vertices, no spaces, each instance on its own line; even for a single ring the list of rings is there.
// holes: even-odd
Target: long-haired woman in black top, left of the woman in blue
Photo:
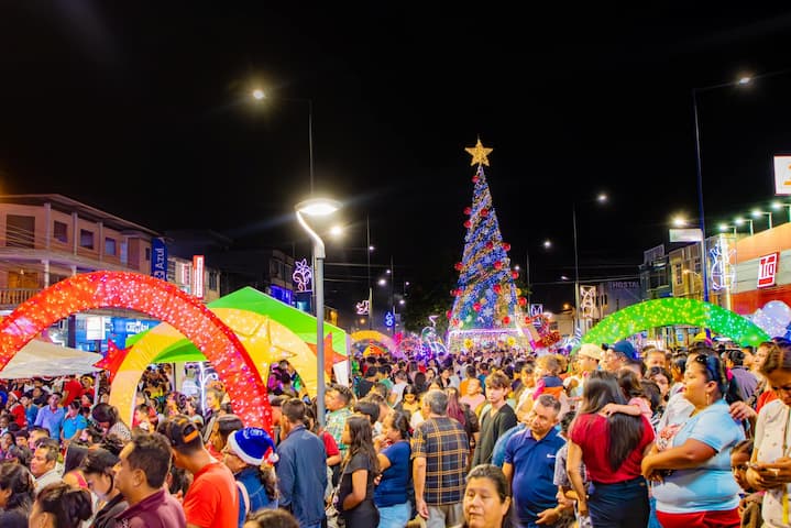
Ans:
[[[380,463],[371,435],[371,420],[365,415],[347,418],[341,441],[349,446],[341,470],[338,504],[347,528],[375,528],[380,514],[374,505],[374,480]]]

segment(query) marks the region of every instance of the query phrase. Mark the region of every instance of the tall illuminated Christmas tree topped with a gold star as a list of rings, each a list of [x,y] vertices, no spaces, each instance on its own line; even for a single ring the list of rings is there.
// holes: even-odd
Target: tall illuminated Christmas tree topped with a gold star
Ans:
[[[517,343],[524,346],[530,341],[529,333],[526,336],[523,330],[520,307],[525,306],[525,298],[519,297],[514,285],[518,272],[510,268],[510,245],[503,242],[483,170],[484,165],[488,166],[486,155],[492,148],[485,148],[479,139],[474,147],[465,150],[477,169],[472,177],[472,206],[464,209],[469,218],[464,222],[464,253],[455,264],[459,284],[451,292],[455,301],[448,314],[448,348],[458,352],[503,340],[512,346]]]

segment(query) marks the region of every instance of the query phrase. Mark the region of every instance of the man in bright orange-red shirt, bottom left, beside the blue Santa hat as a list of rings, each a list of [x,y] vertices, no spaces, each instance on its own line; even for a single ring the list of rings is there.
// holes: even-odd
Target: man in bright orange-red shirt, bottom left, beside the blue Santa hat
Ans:
[[[193,474],[182,505],[187,527],[228,528],[239,524],[239,490],[233,473],[204,447],[197,425],[185,415],[165,420],[158,431],[171,441],[176,468]]]

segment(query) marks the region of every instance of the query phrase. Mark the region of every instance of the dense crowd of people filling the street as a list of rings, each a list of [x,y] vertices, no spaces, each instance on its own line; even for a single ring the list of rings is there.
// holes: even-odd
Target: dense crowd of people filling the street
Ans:
[[[326,416],[288,362],[271,431],[150,367],[0,386],[0,527],[791,526],[791,343],[358,358]],[[95,402],[97,397],[97,402]]]

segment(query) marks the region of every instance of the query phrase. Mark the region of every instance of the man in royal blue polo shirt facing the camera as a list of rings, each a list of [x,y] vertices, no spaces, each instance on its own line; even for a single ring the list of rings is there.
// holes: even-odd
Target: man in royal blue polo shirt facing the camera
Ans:
[[[519,528],[551,527],[562,516],[553,482],[554,458],[565,443],[554,427],[559,413],[560,402],[542,394],[527,418],[527,428],[514,435],[505,447],[503,473],[510,482],[513,521]]]

